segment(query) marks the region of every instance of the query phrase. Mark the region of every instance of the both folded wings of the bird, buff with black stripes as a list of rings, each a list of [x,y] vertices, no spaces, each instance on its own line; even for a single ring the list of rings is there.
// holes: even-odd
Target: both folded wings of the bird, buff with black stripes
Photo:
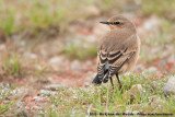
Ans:
[[[130,36],[127,42],[120,44],[120,47],[115,47],[115,45],[107,46],[106,48],[102,47],[98,49],[98,67],[97,72],[100,74],[100,79],[104,77],[104,65],[108,61],[109,66],[109,77],[113,77],[119,69],[126,63],[126,61],[133,56],[137,50],[136,35]],[[118,45],[117,45],[118,46]],[[113,49],[108,49],[113,48]]]

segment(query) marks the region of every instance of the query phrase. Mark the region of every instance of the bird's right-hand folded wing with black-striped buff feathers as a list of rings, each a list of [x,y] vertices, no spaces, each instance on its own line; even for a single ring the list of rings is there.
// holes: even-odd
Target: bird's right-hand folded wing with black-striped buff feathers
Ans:
[[[109,63],[109,77],[117,73],[121,67],[136,54],[137,49],[137,36],[132,35],[121,45],[120,48],[110,50],[107,57]]]

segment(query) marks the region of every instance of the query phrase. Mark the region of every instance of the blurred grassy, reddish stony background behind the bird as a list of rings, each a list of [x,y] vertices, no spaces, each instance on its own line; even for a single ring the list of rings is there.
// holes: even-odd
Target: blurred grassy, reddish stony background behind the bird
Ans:
[[[88,86],[96,74],[100,24],[124,14],[137,26],[141,52],[135,74],[175,74],[174,0],[0,0],[0,82],[23,85],[28,95],[44,86]]]

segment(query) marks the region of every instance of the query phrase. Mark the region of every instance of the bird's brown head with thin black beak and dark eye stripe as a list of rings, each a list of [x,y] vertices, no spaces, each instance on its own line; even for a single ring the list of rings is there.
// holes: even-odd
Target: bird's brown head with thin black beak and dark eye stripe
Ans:
[[[133,23],[124,15],[115,15],[109,20],[102,21],[100,23],[109,25],[110,30],[132,28],[132,27],[135,28]]]

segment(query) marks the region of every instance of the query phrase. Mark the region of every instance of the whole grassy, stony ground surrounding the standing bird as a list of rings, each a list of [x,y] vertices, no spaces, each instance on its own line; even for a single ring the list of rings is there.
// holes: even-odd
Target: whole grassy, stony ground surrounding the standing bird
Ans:
[[[0,1],[0,115],[174,114],[175,96],[163,90],[175,75],[174,5],[173,0]],[[91,83],[97,42],[108,31],[98,22],[118,13],[132,20],[141,39],[136,69],[120,74],[121,91],[115,77],[114,90]]]

